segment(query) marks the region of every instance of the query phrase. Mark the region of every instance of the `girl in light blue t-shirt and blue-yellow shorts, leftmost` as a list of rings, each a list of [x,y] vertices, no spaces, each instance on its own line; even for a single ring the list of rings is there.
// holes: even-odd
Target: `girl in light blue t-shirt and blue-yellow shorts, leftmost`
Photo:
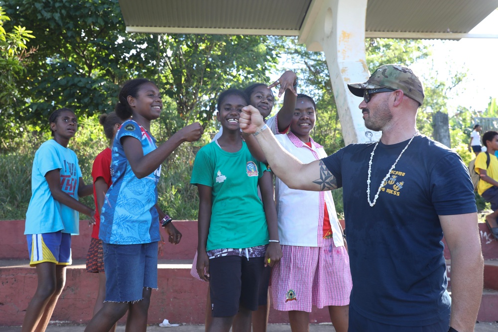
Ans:
[[[31,200],[26,212],[24,235],[29,265],[36,267],[38,285],[29,302],[22,332],[45,331],[66,283],[66,266],[71,265],[71,235],[79,234],[79,213],[95,222],[95,211],[78,201],[92,194],[85,185],[78,157],[67,146],[78,129],[70,109],[50,114],[53,139],[36,150],[31,171]]]

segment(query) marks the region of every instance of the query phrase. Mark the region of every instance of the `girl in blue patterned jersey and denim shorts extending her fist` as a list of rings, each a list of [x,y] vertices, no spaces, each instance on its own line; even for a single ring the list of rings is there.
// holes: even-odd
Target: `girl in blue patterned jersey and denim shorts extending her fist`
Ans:
[[[108,332],[126,311],[126,330],[145,332],[150,294],[157,289],[158,221],[164,221],[170,242],[180,241],[181,234],[157,205],[157,183],[162,162],[181,143],[198,140],[203,129],[200,123],[192,123],[157,147],[150,122],[161,109],[159,89],[151,81],[130,80],[121,89],[116,113],[128,120],[113,143],[113,184],[100,216],[106,300],[86,332]]]

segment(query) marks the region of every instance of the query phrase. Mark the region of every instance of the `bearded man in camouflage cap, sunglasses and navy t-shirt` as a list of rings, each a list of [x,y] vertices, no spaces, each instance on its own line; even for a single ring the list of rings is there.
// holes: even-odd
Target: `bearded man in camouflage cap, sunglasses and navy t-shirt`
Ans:
[[[366,127],[382,131],[378,142],[350,144],[302,164],[278,145],[256,109],[243,109],[240,126],[253,133],[288,187],[343,188],[353,279],[349,332],[474,331],[484,267],[466,166],[457,153],[418,133],[424,90],[409,68],[384,65],[367,82],[348,86],[363,97]]]

